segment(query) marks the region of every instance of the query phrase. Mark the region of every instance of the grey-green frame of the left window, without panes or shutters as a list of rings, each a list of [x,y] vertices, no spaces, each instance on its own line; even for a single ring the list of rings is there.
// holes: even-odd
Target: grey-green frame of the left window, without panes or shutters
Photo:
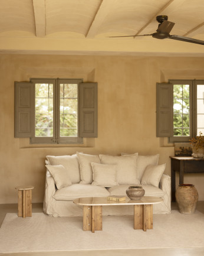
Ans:
[[[59,78],[31,78],[30,82],[35,83],[53,83],[53,136],[52,137],[35,137],[34,132],[30,138],[30,144],[83,144],[83,138],[79,137],[80,134],[80,83],[83,79],[59,79]],[[77,83],[77,137],[60,137],[60,83]],[[35,118],[35,111],[34,111]]]

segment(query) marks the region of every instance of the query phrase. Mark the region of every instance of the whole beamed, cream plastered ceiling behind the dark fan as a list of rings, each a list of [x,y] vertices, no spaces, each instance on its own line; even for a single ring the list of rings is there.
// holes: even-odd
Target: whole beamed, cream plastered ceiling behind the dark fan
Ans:
[[[204,40],[203,0],[0,0],[0,53],[204,56],[204,46],[152,37],[157,15],[170,34]]]

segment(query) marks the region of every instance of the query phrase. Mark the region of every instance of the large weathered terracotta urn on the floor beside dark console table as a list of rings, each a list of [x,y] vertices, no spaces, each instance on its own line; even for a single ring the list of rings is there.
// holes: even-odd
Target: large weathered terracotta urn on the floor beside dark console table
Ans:
[[[180,213],[192,214],[198,202],[198,191],[193,184],[179,184],[176,189],[176,202]]]

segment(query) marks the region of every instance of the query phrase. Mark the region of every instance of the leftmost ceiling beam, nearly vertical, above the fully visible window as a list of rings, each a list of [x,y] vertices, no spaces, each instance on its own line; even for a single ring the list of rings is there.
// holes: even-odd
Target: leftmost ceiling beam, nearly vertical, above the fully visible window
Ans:
[[[45,0],[32,0],[35,15],[35,33],[37,37],[45,37]]]

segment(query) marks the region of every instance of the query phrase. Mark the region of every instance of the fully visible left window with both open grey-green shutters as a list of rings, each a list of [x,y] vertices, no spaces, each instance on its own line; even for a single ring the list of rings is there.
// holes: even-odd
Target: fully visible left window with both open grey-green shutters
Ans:
[[[31,144],[81,144],[83,137],[97,137],[97,83],[16,82],[15,137],[29,137]]]

